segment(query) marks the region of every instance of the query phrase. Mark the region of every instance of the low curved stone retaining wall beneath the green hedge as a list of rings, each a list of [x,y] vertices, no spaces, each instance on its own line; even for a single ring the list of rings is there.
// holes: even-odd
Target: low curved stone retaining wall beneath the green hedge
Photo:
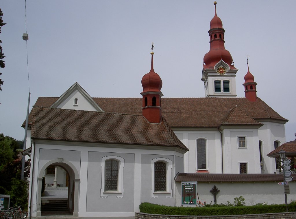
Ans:
[[[178,216],[178,215],[154,215],[136,212],[135,219],[269,219],[269,218],[280,218],[280,219],[293,219],[296,218],[296,212],[288,213],[273,213],[273,214],[254,214],[254,215],[225,215],[225,216]]]

